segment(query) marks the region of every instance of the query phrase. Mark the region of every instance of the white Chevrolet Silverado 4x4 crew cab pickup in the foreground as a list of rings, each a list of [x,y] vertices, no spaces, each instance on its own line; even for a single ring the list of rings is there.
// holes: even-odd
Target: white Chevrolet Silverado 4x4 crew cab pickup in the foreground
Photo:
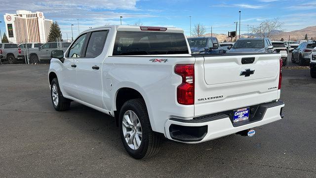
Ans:
[[[283,117],[280,54],[193,55],[178,28],[105,26],[51,57],[54,108],[76,101],[113,116],[136,159],[156,154],[161,136],[184,143],[252,136]]]

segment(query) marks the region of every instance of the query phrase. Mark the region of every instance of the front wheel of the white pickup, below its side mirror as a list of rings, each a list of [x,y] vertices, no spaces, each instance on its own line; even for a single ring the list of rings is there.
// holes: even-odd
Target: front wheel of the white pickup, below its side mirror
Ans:
[[[57,78],[54,78],[51,82],[50,96],[56,111],[66,111],[70,108],[71,100],[65,98],[61,93]]]

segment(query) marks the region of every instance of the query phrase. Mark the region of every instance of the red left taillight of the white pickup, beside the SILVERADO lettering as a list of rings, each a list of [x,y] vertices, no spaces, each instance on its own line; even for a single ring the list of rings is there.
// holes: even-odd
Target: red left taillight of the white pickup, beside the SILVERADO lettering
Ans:
[[[182,77],[182,84],[177,88],[179,104],[194,104],[194,64],[178,64],[174,72]]]

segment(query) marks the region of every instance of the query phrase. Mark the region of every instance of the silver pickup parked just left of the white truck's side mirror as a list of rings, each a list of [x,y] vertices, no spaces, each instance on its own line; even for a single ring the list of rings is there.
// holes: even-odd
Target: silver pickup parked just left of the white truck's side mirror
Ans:
[[[67,42],[50,42],[41,45],[38,49],[29,49],[29,60],[31,64],[50,61],[50,53],[52,50],[66,51],[71,43]]]

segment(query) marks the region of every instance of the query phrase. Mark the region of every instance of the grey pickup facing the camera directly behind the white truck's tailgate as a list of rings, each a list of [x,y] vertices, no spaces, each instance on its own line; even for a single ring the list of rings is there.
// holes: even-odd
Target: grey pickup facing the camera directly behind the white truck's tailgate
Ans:
[[[273,53],[274,47],[268,38],[239,39],[226,53]]]

